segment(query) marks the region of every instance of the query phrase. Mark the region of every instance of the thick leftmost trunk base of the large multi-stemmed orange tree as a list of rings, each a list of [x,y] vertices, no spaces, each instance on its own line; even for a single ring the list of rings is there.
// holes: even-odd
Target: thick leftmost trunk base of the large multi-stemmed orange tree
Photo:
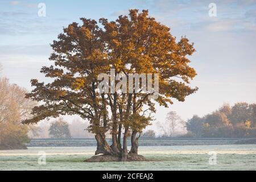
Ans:
[[[95,135],[95,139],[97,140],[97,150],[95,151],[95,155],[98,155],[98,154],[113,155],[114,154],[112,148],[109,147],[108,142],[106,142],[105,134],[98,133]]]

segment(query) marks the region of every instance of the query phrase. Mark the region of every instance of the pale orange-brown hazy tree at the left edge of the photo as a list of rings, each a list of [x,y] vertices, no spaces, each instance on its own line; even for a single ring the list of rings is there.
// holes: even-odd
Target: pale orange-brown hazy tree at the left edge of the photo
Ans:
[[[20,123],[30,117],[35,102],[24,98],[26,90],[0,78],[0,150],[25,149],[30,127]]]

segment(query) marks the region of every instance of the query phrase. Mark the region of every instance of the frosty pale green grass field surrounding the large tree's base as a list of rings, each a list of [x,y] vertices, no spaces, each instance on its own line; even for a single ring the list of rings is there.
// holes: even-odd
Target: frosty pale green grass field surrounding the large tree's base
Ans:
[[[28,147],[0,151],[0,170],[256,170],[256,144],[200,146],[142,146],[139,154],[148,162],[84,162],[95,147]],[[209,151],[217,153],[210,165]],[[46,153],[46,165],[38,158]],[[38,155],[41,154],[41,155]]]

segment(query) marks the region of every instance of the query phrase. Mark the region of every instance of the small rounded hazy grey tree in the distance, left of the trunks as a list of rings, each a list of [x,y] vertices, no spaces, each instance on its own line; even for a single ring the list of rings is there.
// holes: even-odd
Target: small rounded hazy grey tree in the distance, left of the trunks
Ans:
[[[53,138],[59,139],[71,138],[71,134],[68,127],[68,123],[63,121],[62,118],[60,118],[59,120],[51,123],[51,126],[49,127],[49,135],[52,135]]]

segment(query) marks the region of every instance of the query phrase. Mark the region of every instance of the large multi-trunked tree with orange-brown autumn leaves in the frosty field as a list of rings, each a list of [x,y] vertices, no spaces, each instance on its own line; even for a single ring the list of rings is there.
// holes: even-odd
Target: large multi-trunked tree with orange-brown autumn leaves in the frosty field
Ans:
[[[35,89],[27,98],[43,104],[34,107],[32,113],[36,116],[24,123],[65,114],[80,115],[90,122],[88,129],[97,140],[95,154],[121,156],[125,161],[127,138],[131,133],[130,153],[137,155],[138,133],[150,125],[156,102],[168,107],[168,103],[172,104],[171,98],[184,101],[186,96],[196,92],[197,88],[189,86],[196,71],[189,67],[187,57],[195,49],[185,37],[176,42],[170,28],[148,16],[147,10],[142,13],[130,10],[129,16],[121,15],[112,22],[101,18],[102,28],[96,20],[81,20],[81,25],[72,23],[64,28],[51,45],[53,53],[49,59],[54,64],[43,67],[41,72],[53,81],[45,84],[31,80]],[[130,84],[131,93],[128,90],[126,93],[119,90],[100,93],[97,76],[109,74],[110,68],[115,75],[158,73],[158,97],[155,100],[152,97],[156,89],[141,92],[135,90],[134,83]],[[118,83],[118,80],[113,82]],[[108,131],[112,135],[112,146],[105,139]]]

